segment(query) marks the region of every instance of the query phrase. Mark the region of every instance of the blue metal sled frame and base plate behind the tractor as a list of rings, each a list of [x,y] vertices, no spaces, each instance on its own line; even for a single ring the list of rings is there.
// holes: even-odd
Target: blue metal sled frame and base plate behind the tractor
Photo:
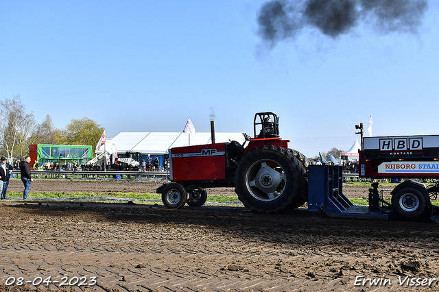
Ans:
[[[354,219],[404,219],[390,209],[378,206],[378,198],[369,196],[369,206],[355,205],[343,194],[343,167],[339,165],[310,165],[308,210],[323,211],[329,217]],[[439,207],[433,206],[433,212]],[[439,216],[425,217],[439,223]],[[420,219],[415,219],[420,220]]]

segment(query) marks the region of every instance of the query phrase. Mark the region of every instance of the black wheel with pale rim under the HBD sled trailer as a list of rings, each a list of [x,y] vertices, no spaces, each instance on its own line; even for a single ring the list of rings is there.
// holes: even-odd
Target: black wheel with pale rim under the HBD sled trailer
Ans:
[[[416,188],[405,187],[392,195],[393,210],[407,218],[421,215],[426,206],[425,197]]]

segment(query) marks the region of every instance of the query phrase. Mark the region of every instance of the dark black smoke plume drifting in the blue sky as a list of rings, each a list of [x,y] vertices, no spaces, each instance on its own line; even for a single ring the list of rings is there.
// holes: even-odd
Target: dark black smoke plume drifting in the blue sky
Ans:
[[[416,33],[428,0],[272,0],[259,10],[258,34],[275,45],[305,26],[336,38],[364,22],[380,33]]]

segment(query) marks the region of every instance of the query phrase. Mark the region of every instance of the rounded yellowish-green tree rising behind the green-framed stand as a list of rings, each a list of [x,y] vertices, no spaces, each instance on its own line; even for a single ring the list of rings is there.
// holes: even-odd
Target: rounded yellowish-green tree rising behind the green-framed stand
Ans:
[[[83,117],[82,119],[71,119],[65,130],[60,134],[60,141],[67,145],[91,145],[94,146],[101,138],[104,127]]]

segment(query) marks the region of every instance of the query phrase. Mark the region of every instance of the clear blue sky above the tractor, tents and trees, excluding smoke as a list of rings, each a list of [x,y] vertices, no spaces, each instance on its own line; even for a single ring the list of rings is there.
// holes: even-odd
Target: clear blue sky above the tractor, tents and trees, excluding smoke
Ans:
[[[266,1],[0,0],[0,97],[56,127],[91,118],[119,132],[252,135],[255,112],[307,156],[374,135],[438,134],[439,3],[417,33],[361,23],[335,38],[304,27],[267,46]]]

